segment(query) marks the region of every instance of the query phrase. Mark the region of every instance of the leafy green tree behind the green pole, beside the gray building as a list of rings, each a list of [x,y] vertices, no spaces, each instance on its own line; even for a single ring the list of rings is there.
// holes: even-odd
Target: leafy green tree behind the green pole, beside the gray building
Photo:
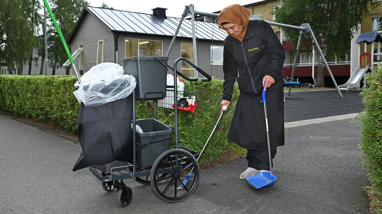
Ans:
[[[68,39],[81,15],[81,11],[85,6],[88,6],[89,3],[84,0],[51,0],[50,5],[63,37]],[[55,75],[56,68],[61,67],[62,64],[68,60],[68,56],[53,23],[50,25],[48,35],[48,43],[50,44],[48,51],[49,65],[53,68],[52,75]],[[70,49],[69,45],[68,47]],[[69,73],[67,72],[67,74]]]

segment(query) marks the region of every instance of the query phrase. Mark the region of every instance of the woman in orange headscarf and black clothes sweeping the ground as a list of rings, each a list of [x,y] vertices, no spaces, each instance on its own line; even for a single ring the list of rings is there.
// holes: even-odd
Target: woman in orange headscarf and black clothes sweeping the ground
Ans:
[[[269,171],[269,157],[262,89],[266,90],[271,158],[284,145],[284,102],[282,68],[285,52],[270,25],[249,21],[249,11],[241,5],[224,8],[218,17],[224,40],[223,101],[229,107],[235,80],[240,95],[228,133],[228,140],[247,149],[248,168],[240,179]]]

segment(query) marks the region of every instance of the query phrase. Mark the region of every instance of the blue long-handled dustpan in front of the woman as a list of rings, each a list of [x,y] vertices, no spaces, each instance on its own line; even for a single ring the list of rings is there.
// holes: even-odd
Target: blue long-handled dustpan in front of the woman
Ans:
[[[264,82],[265,85],[265,82]],[[245,179],[245,181],[255,189],[260,189],[265,186],[273,185],[277,180],[277,176],[272,174],[272,158],[270,155],[270,140],[269,140],[269,128],[268,128],[268,116],[267,116],[267,99],[265,96],[266,90],[263,88],[263,100],[260,102],[264,105],[265,126],[267,129],[267,141],[268,141],[268,156],[269,156],[269,169],[270,172],[261,172],[256,175],[252,175]]]

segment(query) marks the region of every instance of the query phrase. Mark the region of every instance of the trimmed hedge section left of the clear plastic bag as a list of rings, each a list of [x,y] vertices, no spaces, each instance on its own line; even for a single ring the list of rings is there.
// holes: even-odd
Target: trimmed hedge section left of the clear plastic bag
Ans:
[[[0,76],[0,109],[75,132],[79,105],[73,76]]]

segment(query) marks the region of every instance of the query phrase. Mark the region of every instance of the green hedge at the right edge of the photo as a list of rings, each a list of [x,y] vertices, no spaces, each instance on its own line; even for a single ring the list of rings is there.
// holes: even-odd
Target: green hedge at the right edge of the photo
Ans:
[[[366,75],[368,87],[362,92],[365,110],[360,113],[362,135],[360,148],[365,152],[371,186],[371,207],[382,213],[382,66]]]

